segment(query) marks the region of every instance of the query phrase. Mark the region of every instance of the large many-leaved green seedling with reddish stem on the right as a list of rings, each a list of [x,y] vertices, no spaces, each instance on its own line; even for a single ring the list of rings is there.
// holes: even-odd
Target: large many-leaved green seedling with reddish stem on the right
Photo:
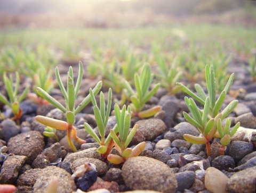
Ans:
[[[232,102],[230,102],[226,106],[226,108],[221,113],[219,113],[221,105],[225,100],[226,93],[228,92],[233,82],[234,74],[230,75],[225,89],[221,92],[217,100],[213,66],[209,67],[209,65],[206,65],[205,77],[206,87],[209,96],[206,96],[203,88],[198,84],[195,84],[195,89],[197,91],[198,96],[181,83],[177,83],[177,85],[179,85],[181,89],[185,91],[185,93],[187,93],[188,95],[196,99],[199,103],[204,105],[204,110],[203,112],[201,112],[201,110],[196,106],[192,98],[188,99],[188,97],[185,97],[185,102],[193,118],[191,118],[186,112],[183,112],[183,115],[188,122],[190,122],[198,128],[203,137],[196,137],[188,134],[185,134],[183,137],[187,141],[192,142],[194,144],[206,144],[207,156],[210,156],[211,149],[209,141],[214,137],[217,131],[217,121],[218,119],[225,119],[227,115],[231,111],[233,111],[234,108],[237,106],[238,100],[233,100]]]

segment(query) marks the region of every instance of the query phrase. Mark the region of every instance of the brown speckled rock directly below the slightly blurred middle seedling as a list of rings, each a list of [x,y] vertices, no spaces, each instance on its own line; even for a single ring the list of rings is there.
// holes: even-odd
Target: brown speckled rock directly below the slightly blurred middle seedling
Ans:
[[[138,131],[142,133],[147,141],[155,139],[166,129],[166,126],[161,119],[140,120],[135,124],[138,124]]]

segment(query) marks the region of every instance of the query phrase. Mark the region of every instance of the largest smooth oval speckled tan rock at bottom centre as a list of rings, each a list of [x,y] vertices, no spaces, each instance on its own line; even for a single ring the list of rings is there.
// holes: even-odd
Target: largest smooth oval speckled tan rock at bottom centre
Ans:
[[[127,187],[132,190],[156,190],[175,192],[178,184],[169,166],[149,157],[131,157],[122,168],[122,176]],[[154,181],[150,178],[154,176]]]

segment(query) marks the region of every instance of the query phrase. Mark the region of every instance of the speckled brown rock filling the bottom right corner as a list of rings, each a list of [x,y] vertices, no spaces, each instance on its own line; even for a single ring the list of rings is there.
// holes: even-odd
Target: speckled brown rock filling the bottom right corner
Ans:
[[[256,166],[235,173],[230,177],[227,184],[227,190],[232,193],[255,192]]]

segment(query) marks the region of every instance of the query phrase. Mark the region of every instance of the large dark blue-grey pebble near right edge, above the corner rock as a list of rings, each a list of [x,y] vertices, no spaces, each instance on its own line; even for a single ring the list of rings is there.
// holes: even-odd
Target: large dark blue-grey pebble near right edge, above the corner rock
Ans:
[[[229,156],[233,157],[235,162],[253,152],[253,145],[245,141],[233,141],[229,150]]]

